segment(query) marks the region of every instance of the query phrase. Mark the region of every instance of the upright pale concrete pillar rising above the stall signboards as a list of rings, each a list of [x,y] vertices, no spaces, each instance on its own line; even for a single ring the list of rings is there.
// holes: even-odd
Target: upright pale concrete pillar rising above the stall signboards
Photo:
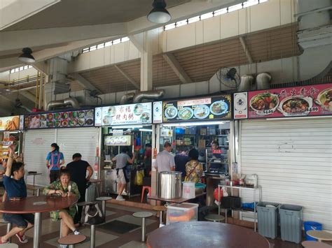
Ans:
[[[143,34],[143,50],[141,51],[141,92],[152,90],[152,31]]]

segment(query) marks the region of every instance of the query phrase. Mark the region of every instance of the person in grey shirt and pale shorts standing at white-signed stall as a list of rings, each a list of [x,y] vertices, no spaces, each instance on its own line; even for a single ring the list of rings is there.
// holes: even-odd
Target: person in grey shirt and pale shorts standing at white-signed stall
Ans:
[[[121,150],[121,153],[113,157],[112,161],[116,161],[116,175],[118,182],[118,196],[116,197],[116,200],[125,200],[122,196],[122,192],[125,189],[125,186],[129,182],[128,176],[127,176],[127,163],[133,163],[134,161],[134,152],[132,153],[132,158],[130,159],[130,156],[128,155],[129,149],[128,147],[123,147]]]

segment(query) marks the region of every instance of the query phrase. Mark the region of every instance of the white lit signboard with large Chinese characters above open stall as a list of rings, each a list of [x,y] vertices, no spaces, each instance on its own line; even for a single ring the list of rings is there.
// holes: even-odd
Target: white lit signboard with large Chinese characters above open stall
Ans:
[[[152,103],[134,103],[102,107],[96,110],[95,126],[116,126],[152,123]],[[98,115],[97,115],[98,114]]]

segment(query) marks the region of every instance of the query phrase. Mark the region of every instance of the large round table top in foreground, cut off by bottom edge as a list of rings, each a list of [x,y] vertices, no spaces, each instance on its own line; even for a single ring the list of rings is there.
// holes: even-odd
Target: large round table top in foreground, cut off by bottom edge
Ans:
[[[152,248],[270,247],[266,238],[249,228],[210,221],[178,222],[158,228],[148,235],[146,244]]]

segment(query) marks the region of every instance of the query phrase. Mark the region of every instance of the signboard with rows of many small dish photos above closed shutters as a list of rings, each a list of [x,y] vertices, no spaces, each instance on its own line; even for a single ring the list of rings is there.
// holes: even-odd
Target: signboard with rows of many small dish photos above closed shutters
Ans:
[[[25,129],[54,129],[93,126],[94,116],[95,112],[93,109],[26,115]]]

